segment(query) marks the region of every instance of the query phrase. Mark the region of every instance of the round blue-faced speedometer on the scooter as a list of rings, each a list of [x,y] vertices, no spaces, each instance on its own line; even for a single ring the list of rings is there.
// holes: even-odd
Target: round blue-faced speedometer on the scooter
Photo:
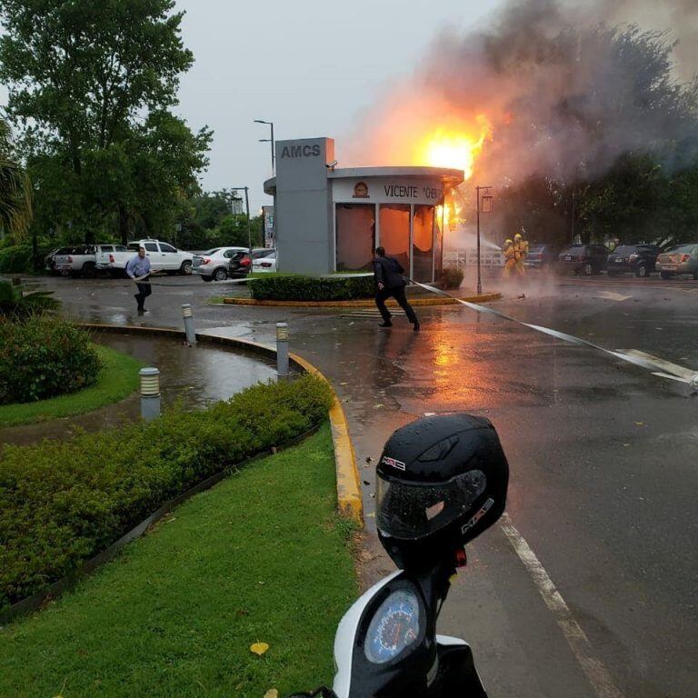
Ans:
[[[383,664],[402,654],[419,637],[419,601],[409,589],[391,593],[374,613],[364,641],[366,659]]]

